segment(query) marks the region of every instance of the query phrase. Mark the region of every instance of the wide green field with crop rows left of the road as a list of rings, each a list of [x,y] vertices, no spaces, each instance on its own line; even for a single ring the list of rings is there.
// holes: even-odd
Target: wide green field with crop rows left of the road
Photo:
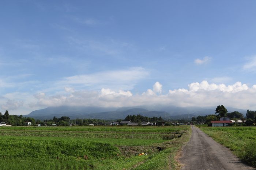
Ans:
[[[189,126],[0,127],[0,167],[176,169],[189,135]]]

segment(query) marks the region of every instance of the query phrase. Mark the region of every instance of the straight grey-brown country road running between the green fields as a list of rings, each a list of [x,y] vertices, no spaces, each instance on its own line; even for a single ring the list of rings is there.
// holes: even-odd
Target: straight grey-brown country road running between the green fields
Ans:
[[[191,126],[192,136],[182,149],[181,170],[255,170],[245,165],[234,154],[208,137],[199,128]]]

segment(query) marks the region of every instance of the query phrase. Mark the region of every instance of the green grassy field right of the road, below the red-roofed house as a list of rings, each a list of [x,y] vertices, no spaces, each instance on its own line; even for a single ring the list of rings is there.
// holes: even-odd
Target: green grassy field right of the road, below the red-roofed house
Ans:
[[[256,167],[256,127],[199,127],[242,161]]]

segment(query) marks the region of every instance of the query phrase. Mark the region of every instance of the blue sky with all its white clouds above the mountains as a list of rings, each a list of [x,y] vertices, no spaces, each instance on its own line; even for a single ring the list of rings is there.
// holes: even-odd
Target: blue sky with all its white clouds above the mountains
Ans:
[[[256,1],[1,1],[1,112],[256,109]]]

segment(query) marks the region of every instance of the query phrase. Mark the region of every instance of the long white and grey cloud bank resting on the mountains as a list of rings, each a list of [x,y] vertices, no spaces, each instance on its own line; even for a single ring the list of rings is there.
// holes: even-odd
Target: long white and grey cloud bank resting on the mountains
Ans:
[[[156,82],[153,89],[148,89],[142,94],[132,94],[131,91],[114,91],[109,88],[97,90],[79,90],[65,88],[65,94],[34,95],[37,99],[31,105],[36,106],[101,106],[101,107],[133,107],[148,105],[172,105],[179,107],[208,107],[223,104],[243,109],[255,109],[254,98],[256,85],[248,87],[246,84],[236,82],[232,85],[209,84],[206,80],[195,82],[188,88],[169,90],[162,94],[162,84]]]

